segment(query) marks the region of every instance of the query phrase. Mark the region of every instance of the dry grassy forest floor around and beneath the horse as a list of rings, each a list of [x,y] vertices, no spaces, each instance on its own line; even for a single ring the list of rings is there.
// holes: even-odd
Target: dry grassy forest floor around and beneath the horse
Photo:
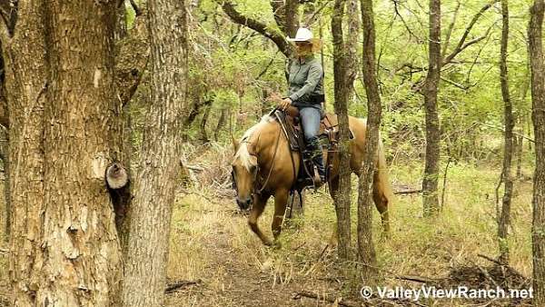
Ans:
[[[217,163],[223,163],[219,160],[221,157]],[[203,161],[212,160],[204,156]],[[201,165],[204,169],[210,166]],[[373,232],[381,272],[380,282],[374,285],[419,289],[421,282],[406,280],[416,277],[444,289],[458,285],[490,288],[496,282],[528,287],[528,281],[519,277],[531,276],[531,181],[516,184],[511,211],[510,268],[518,275],[512,277],[508,272],[506,277],[505,270],[498,271],[493,262],[480,256],[497,255],[494,190],[498,169],[490,165],[451,165],[441,216],[434,220],[421,216],[420,193],[398,195],[390,208],[389,239],[381,237],[380,217],[374,211]],[[198,174],[197,179],[210,175],[218,174]],[[418,188],[420,178],[420,165],[391,167],[394,190]],[[166,306],[528,305],[528,301],[486,299],[380,300],[376,294],[372,302],[366,302],[360,290],[368,284],[362,282],[359,263],[341,262],[336,250],[327,246],[335,223],[327,191],[322,188],[318,193],[309,193],[303,217],[284,225],[282,247],[268,248],[238,212],[233,192],[224,183],[217,184],[223,186],[220,191],[213,184],[216,179],[210,180],[184,189],[174,205],[168,278],[171,282],[195,283],[168,293]],[[352,191],[355,184],[354,178]],[[355,217],[356,193],[352,196]],[[272,202],[260,220],[264,233],[270,236],[271,221]],[[356,221],[352,221],[352,246],[356,246],[355,233]],[[5,244],[0,247],[5,248]],[[505,280],[501,280],[502,274]],[[312,295],[319,298],[307,297]],[[7,259],[0,254],[0,306],[7,306],[8,297]]]

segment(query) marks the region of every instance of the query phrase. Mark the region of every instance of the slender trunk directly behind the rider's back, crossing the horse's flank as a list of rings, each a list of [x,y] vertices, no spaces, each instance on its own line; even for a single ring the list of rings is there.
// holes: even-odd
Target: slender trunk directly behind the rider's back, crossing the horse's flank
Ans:
[[[335,0],[332,15],[333,35],[333,74],[335,82],[335,113],[339,119],[339,187],[335,193],[335,212],[337,213],[337,230],[339,246],[337,248],[339,257],[349,259],[351,243],[351,169],[349,153],[349,128],[348,128],[348,98],[350,96],[350,85],[347,80],[347,54],[342,35],[342,15],[346,0]],[[357,35],[352,35],[354,39]]]

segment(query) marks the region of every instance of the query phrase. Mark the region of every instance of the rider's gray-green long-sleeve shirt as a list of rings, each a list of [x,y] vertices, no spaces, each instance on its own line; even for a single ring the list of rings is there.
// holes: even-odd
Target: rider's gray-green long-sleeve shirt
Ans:
[[[323,68],[314,55],[308,55],[303,60],[294,59],[289,73],[288,96],[292,99],[292,104],[299,108],[321,108],[321,104],[312,104],[311,101],[311,96],[323,94]]]

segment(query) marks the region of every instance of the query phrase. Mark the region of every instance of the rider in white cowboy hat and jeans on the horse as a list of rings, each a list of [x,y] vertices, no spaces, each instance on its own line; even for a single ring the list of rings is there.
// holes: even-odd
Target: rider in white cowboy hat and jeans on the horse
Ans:
[[[318,170],[320,181],[316,178],[314,182],[314,185],[318,187],[325,183],[322,145],[318,139],[324,101],[323,68],[313,54],[320,49],[320,40],[314,39],[312,32],[304,27],[297,30],[294,38],[287,39],[295,44],[296,56],[292,59],[288,70],[288,96],[281,100],[280,106],[283,110],[290,105],[299,109],[306,141],[304,158],[312,160]]]

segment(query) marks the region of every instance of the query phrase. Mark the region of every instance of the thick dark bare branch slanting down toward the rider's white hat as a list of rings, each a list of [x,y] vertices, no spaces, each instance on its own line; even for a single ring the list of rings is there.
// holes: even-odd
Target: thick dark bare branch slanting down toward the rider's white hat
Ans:
[[[282,33],[280,33],[279,31],[272,31],[270,26],[260,23],[255,19],[246,17],[241,13],[237,12],[234,8],[234,5],[229,1],[223,1],[221,5],[223,8],[223,12],[225,12],[225,14],[228,15],[234,23],[239,25],[245,25],[251,28],[253,31],[256,31],[259,34],[269,38],[270,40],[272,40],[272,43],[274,43],[278,47],[282,54],[284,54],[286,57],[291,57],[293,53],[292,45],[288,43]]]

